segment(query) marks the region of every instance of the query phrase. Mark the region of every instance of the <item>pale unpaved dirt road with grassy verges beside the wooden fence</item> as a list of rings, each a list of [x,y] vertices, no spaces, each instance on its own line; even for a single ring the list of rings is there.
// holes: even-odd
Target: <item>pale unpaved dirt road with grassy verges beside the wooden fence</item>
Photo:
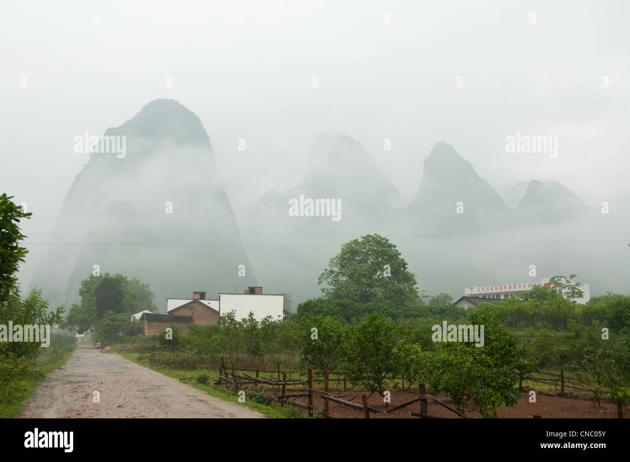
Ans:
[[[93,402],[94,391],[100,402]],[[261,418],[118,354],[77,347],[65,366],[46,376],[20,417]]]

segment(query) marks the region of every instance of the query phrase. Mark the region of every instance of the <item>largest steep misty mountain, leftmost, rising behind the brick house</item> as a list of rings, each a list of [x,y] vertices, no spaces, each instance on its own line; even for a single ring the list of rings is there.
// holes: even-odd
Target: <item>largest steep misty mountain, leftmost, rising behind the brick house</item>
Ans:
[[[124,136],[126,155],[90,154],[54,231],[61,241],[45,265],[54,271],[35,275],[33,284],[53,301],[76,303],[81,280],[98,265],[101,274],[148,282],[163,311],[166,297],[214,296],[256,282],[197,115],[155,100],[105,136]]]

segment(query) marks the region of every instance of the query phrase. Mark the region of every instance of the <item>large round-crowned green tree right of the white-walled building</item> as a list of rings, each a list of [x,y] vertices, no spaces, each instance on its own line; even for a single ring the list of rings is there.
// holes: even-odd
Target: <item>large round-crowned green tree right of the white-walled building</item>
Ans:
[[[417,303],[416,277],[407,270],[396,246],[379,234],[345,243],[319,275],[324,295],[358,303],[392,301],[396,306]]]

